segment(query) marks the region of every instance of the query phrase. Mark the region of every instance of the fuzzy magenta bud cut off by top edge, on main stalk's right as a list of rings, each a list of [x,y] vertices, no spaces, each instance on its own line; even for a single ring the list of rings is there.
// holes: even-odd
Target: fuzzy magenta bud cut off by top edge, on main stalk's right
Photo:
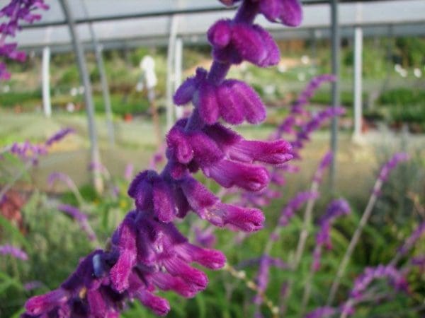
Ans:
[[[302,21],[302,7],[298,0],[260,0],[260,12],[271,22],[297,26]]]

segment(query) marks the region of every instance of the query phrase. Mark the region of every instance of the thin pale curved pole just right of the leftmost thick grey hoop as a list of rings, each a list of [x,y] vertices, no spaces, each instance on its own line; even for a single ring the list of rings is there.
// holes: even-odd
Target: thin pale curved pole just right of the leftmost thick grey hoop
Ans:
[[[86,7],[85,0],[81,0],[81,6],[84,10],[84,15],[89,18],[89,11]],[[103,63],[102,46],[99,44],[96,33],[94,32],[93,25],[89,23],[89,30],[91,36],[91,43],[93,45],[94,54],[96,57],[96,64],[99,70],[99,77],[101,78],[101,87],[103,95],[103,103],[105,106],[106,126],[108,127],[108,136],[111,146],[115,146],[115,129],[113,127],[113,116],[111,107],[111,94],[109,93],[108,78],[106,77],[105,64]]]

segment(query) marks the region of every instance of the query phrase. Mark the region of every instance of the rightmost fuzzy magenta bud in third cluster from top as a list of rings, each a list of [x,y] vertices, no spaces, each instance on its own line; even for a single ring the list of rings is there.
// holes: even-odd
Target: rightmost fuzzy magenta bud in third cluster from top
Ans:
[[[232,81],[234,95],[242,103],[246,121],[250,124],[259,124],[266,119],[266,107],[259,95],[242,81]]]

